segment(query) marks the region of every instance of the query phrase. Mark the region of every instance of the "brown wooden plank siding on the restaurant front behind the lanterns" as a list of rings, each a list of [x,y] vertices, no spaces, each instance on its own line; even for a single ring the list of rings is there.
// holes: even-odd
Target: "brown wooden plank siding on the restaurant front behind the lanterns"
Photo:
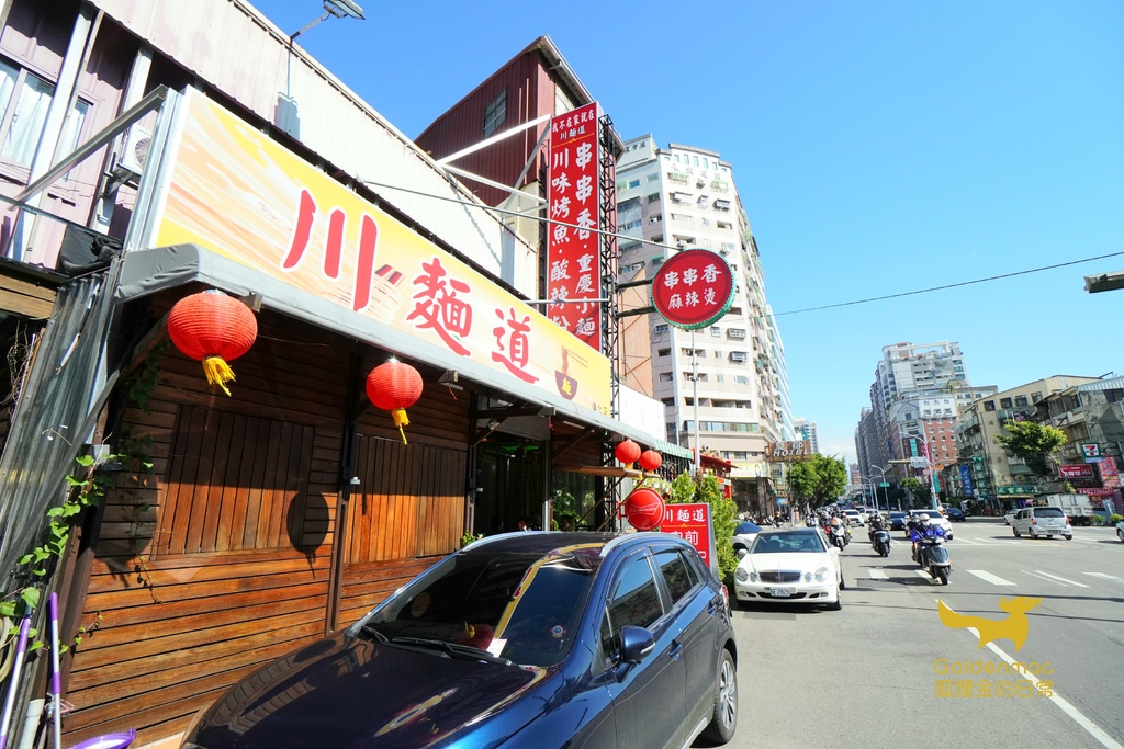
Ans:
[[[232,684],[353,622],[459,544],[468,395],[426,385],[409,445],[389,414],[363,412],[361,484],[341,504],[356,408],[347,341],[268,312],[259,326],[232,363],[232,398],[171,349],[148,410],[124,413],[152,439],[153,471],[120,472],[106,497],[82,608],[97,629],[72,650],[65,685],[67,745],[133,727],[139,746],[183,730]]]

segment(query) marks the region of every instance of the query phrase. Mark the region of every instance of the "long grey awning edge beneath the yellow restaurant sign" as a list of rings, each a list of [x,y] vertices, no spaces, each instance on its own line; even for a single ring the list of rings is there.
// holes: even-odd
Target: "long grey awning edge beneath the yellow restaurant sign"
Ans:
[[[654,435],[604,413],[578,407],[562,395],[553,395],[517,377],[504,377],[500,381],[501,375],[497,375],[495,369],[468,357],[396,330],[372,318],[350,312],[335,302],[290,286],[194,244],[126,253],[121,259],[119,282],[114,296],[118,301],[128,301],[190,283],[203,283],[235,296],[257,294],[265,309],[384,348],[408,359],[424,362],[439,369],[456,371],[468,380],[495,386],[531,403],[552,407],[560,415],[604,429],[619,438],[627,437],[647,446],[668,445]],[[682,451],[682,448],[676,448],[673,445],[670,447],[676,450],[676,453],[668,450],[671,454],[678,455]],[[687,454],[690,455],[689,451]]]

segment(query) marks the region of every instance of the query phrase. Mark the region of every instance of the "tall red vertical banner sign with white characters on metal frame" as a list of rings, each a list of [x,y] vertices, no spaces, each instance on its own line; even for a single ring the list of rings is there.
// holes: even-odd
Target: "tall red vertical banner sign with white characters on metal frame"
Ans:
[[[546,298],[601,296],[601,210],[597,103],[551,119],[546,200]],[[556,221],[556,223],[555,223]],[[546,317],[601,350],[601,303],[549,304]]]

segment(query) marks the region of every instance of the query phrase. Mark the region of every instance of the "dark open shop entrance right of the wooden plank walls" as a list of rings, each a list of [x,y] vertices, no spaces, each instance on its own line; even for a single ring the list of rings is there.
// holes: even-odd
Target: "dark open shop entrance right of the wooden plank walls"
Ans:
[[[517,530],[519,520],[534,529],[543,527],[545,449],[541,441],[493,433],[477,446],[474,533]]]

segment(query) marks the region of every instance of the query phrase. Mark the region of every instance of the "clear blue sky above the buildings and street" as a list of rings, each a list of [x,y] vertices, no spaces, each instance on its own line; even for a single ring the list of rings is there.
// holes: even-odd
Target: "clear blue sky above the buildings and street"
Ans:
[[[361,4],[299,43],[407,136],[547,34],[623,138],[733,164],[824,453],[854,458],[885,345],[959,341],[1000,390],[1124,374],[1124,291],[1082,281],[1124,255],[786,314],[1124,253],[1124,2]]]

